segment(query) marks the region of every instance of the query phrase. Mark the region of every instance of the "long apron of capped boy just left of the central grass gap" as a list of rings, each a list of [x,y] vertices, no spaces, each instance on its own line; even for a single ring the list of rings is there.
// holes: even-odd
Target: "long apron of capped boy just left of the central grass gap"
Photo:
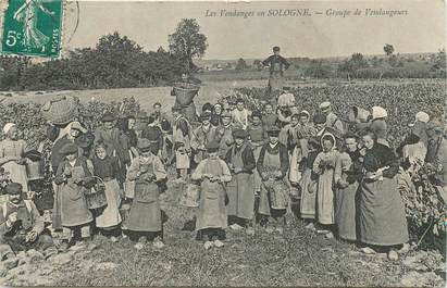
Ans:
[[[153,173],[153,163],[148,165]],[[161,209],[159,186],[147,180],[135,181],[135,197],[132,203],[127,228],[134,231],[161,231]]]

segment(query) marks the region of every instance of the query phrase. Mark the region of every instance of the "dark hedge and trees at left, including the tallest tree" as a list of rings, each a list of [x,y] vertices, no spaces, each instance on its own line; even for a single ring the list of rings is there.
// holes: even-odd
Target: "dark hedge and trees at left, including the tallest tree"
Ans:
[[[58,90],[162,86],[195,70],[204,54],[207,37],[195,20],[182,20],[169,35],[169,51],[146,52],[117,32],[102,36],[95,48],[69,51],[42,63],[29,58],[0,58],[0,90]]]

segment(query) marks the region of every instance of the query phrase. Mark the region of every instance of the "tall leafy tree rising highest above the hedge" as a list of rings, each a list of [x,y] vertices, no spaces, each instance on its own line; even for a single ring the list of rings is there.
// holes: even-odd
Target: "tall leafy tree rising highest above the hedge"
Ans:
[[[183,18],[169,35],[170,52],[184,61],[185,67],[191,71],[196,67],[194,58],[201,58],[208,48],[207,36],[200,33],[200,26],[195,18]]]

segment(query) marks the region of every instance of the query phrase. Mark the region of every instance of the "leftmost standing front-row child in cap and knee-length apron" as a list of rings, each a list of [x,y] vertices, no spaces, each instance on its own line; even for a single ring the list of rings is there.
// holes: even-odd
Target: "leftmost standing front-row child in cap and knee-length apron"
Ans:
[[[74,143],[66,143],[61,148],[60,153],[65,159],[59,164],[54,183],[60,185],[62,198],[63,235],[60,249],[64,251],[79,238],[76,234],[80,233],[79,245],[90,238],[90,224],[94,217],[87,208],[84,196],[86,178],[91,176],[91,172],[87,167],[87,160],[78,156],[78,148]]]

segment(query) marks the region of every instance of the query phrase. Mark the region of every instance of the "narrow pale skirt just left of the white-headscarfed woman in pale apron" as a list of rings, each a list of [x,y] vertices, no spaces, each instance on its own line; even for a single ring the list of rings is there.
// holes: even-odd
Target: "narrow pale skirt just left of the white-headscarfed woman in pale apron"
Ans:
[[[301,186],[301,218],[313,220],[315,218],[316,184],[312,180],[311,175],[311,170],[305,170],[299,185]]]

